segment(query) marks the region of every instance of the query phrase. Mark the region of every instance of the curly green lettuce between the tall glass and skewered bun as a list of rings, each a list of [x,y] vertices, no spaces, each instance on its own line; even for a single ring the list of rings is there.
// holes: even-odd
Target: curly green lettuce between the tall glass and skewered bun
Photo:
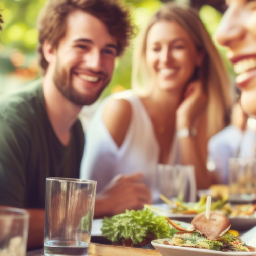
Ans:
[[[178,232],[169,225],[164,216],[159,216],[151,210],[126,210],[102,221],[102,236],[112,242],[131,239],[133,244],[141,243],[148,234],[155,238],[170,238]]]

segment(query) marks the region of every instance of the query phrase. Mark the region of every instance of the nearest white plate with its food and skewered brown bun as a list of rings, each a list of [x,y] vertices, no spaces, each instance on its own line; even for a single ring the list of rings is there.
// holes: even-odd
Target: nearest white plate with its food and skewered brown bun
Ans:
[[[151,244],[163,255],[255,255],[256,248],[246,245],[234,231],[230,220],[219,212],[197,215],[191,227],[183,228],[167,218],[177,232],[171,238],[153,240]]]

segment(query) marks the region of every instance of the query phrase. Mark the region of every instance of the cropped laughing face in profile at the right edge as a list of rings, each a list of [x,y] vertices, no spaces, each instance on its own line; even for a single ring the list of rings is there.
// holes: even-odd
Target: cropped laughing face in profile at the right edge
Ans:
[[[228,9],[216,32],[217,41],[228,48],[242,108],[256,114],[256,0],[227,0]]]

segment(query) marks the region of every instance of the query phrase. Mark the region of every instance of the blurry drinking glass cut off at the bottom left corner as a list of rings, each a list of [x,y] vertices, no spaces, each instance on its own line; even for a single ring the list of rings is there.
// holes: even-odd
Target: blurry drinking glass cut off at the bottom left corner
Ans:
[[[25,256],[29,214],[26,210],[0,207],[0,255]]]

